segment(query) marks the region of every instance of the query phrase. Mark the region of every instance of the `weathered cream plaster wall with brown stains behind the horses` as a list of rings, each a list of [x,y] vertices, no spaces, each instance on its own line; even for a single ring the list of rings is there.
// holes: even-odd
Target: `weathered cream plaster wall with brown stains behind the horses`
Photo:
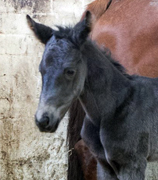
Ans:
[[[55,134],[34,124],[43,45],[26,14],[49,26],[80,19],[92,0],[0,0],[0,180],[66,180],[66,117]],[[158,179],[156,163],[147,180]]]

